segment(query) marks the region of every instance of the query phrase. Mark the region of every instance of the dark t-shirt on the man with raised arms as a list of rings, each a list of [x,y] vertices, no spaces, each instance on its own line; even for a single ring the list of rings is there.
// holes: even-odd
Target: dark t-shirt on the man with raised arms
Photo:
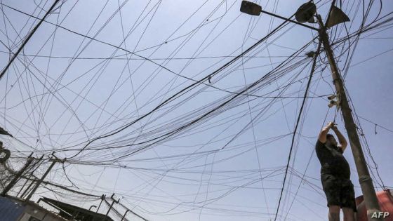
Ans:
[[[349,179],[351,171],[342,149],[334,145],[323,144],[319,140],[315,145],[315,151],[321,163],[321,174],[333,175],[336,178]]]

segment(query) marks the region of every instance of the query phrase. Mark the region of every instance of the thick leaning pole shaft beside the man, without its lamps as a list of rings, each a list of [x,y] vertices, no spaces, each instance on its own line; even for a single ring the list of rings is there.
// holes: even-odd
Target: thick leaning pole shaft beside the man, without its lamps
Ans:
[[[340,72],[335,62],[333,51],[329,43],[328,34],[326,33],[326,27],[324,25],[324,22],[322,21],[321,15],[317,15],[317,20],[320,27],[319,37],[324,44],[325,52],[331,66],[335,91],[337,91],[338,93],[339,107],[341,108],[342,118],[344,119],[345,128],[347,129],[349,144],[352,149],[352,154],[354,155],[354,161],[357,167],[357,174],[359,175],[361,192],[363,193],[364,201],[366,203],[368,220],[383,220],[382,218],[371,218],[371,215],[374,212],[377,212],[377,214],[379,214],[378,212],[380,212],[380,206],[378,204],[378,199],[375,194],[373,180],[371,179],[370,173],[368,172],[366,160],[364,159],[364,153],[361,149],[359,135],[357,134],[357,126],[354,123],[354,119],[352,117],[352,110],[349,108],[344,84],[342,83]]]

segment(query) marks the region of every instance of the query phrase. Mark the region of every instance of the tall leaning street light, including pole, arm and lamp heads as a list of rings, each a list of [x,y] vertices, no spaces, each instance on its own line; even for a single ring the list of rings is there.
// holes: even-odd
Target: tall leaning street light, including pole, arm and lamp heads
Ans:
[[[349,144],[351,146],[355,165],[357,167],[361,192],[363,193],[364,202],[366,203],[368,220],[383,220],[382,218],[376,218],[371,216],[375,213],[380,214],[380,206],[378,204],[378,199],[375,194],[375,189],[373,187],[373,180],[371,179],[370,173],[368,172],[366,159],[364,158],[363,150],[361,149],[359,135],[357,134],[357,127],[354,123],[352,111],[349,107],[348,98],[344,89],[344,83],[342,82],[340,76],[340,70],[338,69],[337,63],[335,62],[333,50],[331,49],[331,44],[329,43],[328,34],[326,32],[326,29],[329,27],[333,27],[342,22],[349,21],[348,16],[345,15],[345,13],[340,10],[340,8],[334,6],[334,2],[335,1],[333,1],[333,4],[331,6],[331,10],[329,12],[326,24],[324,24],[324,22],[322,21],[321,15],[317,14],[317,6],[315,6],[312,1],[302,4],[302,6],[298,8],[298,11],[296,11],[295,13],[296,21],[284,18],[279,15],[275,15],[273,13],[269,13],[267,11],[262,11],[261,6],[249,1],[241,2],[240,11],[248,15],[260,15],[260,13],[265,13],[267,15],[272,15],[276,18],[281,18],[282,20],[286,20],[288,22],[302,25],[303,27],[308,27],[309,29],[314,29],[318,31],[319,39],[324,45],[324,51],[331,67],[333,84],[335,86],[335,91],[337,91],[338,94],[338,104],[340,105],[342,118],[344,119],[345,128],[347,129]],[[319,29],[303,24],[305,22],[315,23],[314,17],[317,18]]]

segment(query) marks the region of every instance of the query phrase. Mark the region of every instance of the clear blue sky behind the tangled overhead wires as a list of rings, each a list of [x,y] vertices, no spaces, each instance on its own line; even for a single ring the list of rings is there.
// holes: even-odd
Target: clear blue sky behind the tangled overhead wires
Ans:
[[[246,51],[282,21],[242,14],[241,1],[61,2],[0,80],[0,126],[17,138],[1,137],[12,151],[13,166],[21,166],[30,152],[48,156],[54,151],[69,160],[64,169],[56,164],[46,180],[88,194],[115,193],[124,206],[148,220],[274,220],[312,64],[305,53],[317,50],[317,40],[309,43],[317,32],[286,25],[212,75],[211,83],[205,79],[135,121]],[[331,1],[315,2],[326,19]],[[287,18],[303,3],[258,1],[266,11]],[[382,18],[392,13],[392,1],[382,3],[380,11],[380,2],[374,2],[366,25],[379,11],[380,21],[392,17]],[[1,1],[1,69],[51,4]],[[351,22],[329,30],[333,42],[356,32],[362,21],[360,1],[344,1],[342,10]],[[382,181],[392,187],[389,25],[391,21],[361,34],[359,41],[353,37],[334,48],[359,128]],[[253,86],[307,43],[280,72]],[[335,116],[345,132],[340,113],[329,109],[323,96],[334,93],[327,65],[322,53],[309,88],[313,98],[307,98],[295,135],[277,220],[327,217],[314,143],[323,123]],[[230,100],[246,86],[253,86],[247,95]],[[166,138],[169,132],[173,134]],[[107,137],[92,141],[103,135]],[[75,149],[86,145],[77,154]],[[366,145],[363,148],[377,175]],[[345,157],[359,196],[350,148]],[[34,175],[42,175],[48,164],[45,161]],[[373,179],[380,190],[378,176]],[[34,199],[50,196],[85,208],[100,202],[46,187]],[[119,205],[115,208],[125,212]],[[103,205],[100,213],[106,210]],[[138,219],[131,213],[127,217]]]

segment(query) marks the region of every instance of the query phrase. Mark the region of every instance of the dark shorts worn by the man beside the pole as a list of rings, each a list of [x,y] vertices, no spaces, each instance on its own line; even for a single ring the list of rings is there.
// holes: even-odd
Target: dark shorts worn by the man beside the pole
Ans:
[[[352,208],[357,211],[355,202],[354,185],[351,180],[335,178],[333,175],[321,175],[322,187],[328,200],[328,206],[340,206],[340,208]]]

